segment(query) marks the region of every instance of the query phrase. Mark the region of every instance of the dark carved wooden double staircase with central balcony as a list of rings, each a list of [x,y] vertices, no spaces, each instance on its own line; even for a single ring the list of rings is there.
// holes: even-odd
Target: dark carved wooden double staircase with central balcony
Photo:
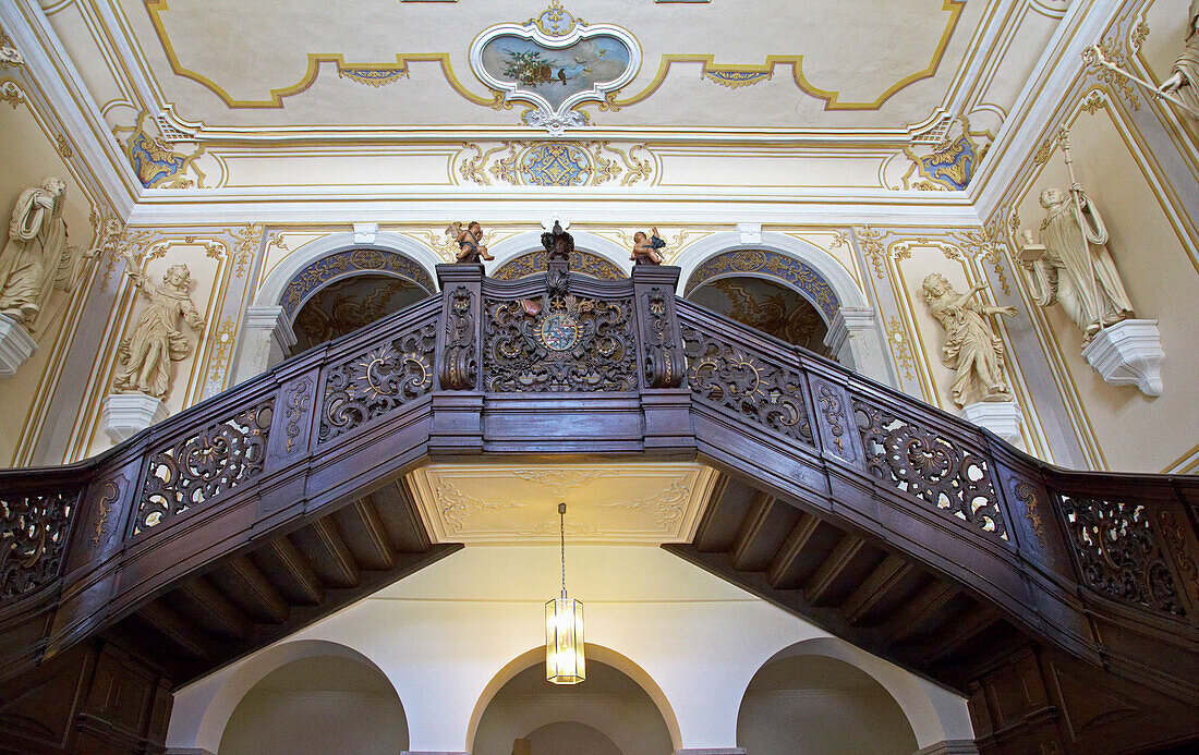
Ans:
[[[674,295],[550,261],[95,459],[0,472],[0,751],[161,751],[170,689],[452,552],[429,459],[722,472],[671,552],[969,694],[987,753],[1199,737],[1199,478],[1071,472]]]

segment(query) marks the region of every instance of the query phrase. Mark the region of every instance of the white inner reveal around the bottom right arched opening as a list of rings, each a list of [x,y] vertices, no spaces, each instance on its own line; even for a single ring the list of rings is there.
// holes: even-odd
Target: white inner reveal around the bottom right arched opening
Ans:
[[[737,718],[741,717],[741,705],[745,703],[746,693],[754,677],[758,676],[758,671],[773,660],[797,656],[824,656],[842,660],[881,684],[882,689],[899,705],[904,718],[908,719],[908,725],[916,735],[916,745],[921,749],[948,739],[972,741],[975,738],[974,725],[970,723],[970,711],[966,708],[964,697],[835,636],[800,640],[759,664],[757,671],[746,683],[746,688],[741,690]]]

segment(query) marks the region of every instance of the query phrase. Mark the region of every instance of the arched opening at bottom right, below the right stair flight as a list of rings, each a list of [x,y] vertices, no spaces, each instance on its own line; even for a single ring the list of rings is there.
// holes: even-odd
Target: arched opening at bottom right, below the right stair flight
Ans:
[[[874,677],[836,658],[781,653],[754,675],[737,713],[754,755],[909,755],[916,735]]]

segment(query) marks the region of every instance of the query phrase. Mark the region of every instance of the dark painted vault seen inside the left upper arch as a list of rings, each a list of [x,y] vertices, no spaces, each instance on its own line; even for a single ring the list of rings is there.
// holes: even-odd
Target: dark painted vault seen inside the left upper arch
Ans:
[[[427,297],[428,294],[422,289],[402,278],[343,278],[317,291],[300,308],[293,324],[296,345],[291,350],[300,354],[341,338]]]

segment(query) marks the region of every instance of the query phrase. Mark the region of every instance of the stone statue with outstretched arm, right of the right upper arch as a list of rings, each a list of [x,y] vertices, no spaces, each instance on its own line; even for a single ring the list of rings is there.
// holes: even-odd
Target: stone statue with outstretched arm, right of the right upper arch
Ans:
[[[958,294],[940,273],[924,278],[924,303],[945,328],[941,360],[957,370],[951,394],[958,406],[978,401],[1010,401],[1011,388],[1004,380],[1004,342],[995,337],[990,315],[1016,314],[1014,307],[986,307],[971,301],[987,286],[971,286]]]

